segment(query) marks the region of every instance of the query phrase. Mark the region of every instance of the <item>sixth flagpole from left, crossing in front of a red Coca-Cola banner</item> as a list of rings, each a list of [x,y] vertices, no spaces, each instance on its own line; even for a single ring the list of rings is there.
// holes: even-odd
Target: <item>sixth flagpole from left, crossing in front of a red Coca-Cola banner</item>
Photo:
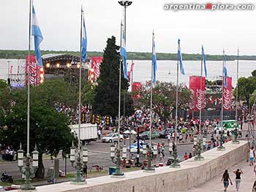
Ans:
[[[203,49],[203,45],[202,45],[202,49]],[[201,147],[202,147],[202,134],[201,134],[201,120],[202,120],[202,107],[203,107],[203,85],[202,85],[202,80],[203,78],[203,50],[202,50],[202,56],[201,56],[201,74],[200,74],[200,94],[202,94],[202,100],[200,100],[200,109],[199,109],[199,144],[198,144],[198,154],[195,157],[196,161],[201,161],[203,160],[203,156],[201,155]]]

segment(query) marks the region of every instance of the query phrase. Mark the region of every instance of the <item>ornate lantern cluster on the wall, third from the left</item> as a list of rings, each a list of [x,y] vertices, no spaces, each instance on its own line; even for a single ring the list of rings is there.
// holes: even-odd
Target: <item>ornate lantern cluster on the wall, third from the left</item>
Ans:
[[[122,148],[122,158],[127,158],[127,146],[123,146]],[[116,158],[115,158],[116,156]],[[111,145],[110,147],[110,158],[113,161],[114,164],[116,164],[116,172],[114,172],[111,177],[125,177],[124,173],[121,172],[121,150],[120,147],[116,147],[115,145]]]

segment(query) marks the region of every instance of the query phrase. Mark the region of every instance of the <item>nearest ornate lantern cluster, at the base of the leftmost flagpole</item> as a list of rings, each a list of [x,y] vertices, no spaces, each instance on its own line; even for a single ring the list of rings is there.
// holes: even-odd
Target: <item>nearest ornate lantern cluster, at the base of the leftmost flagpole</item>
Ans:
[[[21,186],[21,191],[35,191],[35,187],[31,185],[31,177],[34,177],[34,174],[37,172],[38,168],[38,155],[37,146],[34,148],[32,152],[32,159],[29,153],[26,154],[26,165],[23,166],[23,158],[24,151],[21,149],[18,150],[18,167],[20,169],[20,173],[25,175],[25,185]],[[32,163],[32,167],[31,166]]]

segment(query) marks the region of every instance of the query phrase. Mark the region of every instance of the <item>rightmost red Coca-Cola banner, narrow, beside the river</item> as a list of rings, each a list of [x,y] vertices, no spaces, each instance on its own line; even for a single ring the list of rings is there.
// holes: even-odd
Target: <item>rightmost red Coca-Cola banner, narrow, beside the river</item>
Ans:
[[[232,77],[227,77],[227,88],[223,86],[223,110],[231,110],[231,96],[232,96]]]

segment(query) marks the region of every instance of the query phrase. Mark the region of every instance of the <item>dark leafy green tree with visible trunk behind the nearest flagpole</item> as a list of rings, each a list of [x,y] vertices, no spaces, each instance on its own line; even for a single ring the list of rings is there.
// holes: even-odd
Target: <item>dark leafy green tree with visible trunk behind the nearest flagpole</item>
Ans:
[[[20,143],[26,149],[27,133],[26,105],[15,105],[4,120],[4,128],[0,128],[2,146],[12,145],[17,151]],[[67,116],[57,112],[48,105],[35,104],[30,108],[30,152],[37,145],[39,150],[39,169],[37,177],[44,177],[45,168],[42,153],[48,152],[56,156],[60,150],[68,153],[74,135],[70,132]]]

